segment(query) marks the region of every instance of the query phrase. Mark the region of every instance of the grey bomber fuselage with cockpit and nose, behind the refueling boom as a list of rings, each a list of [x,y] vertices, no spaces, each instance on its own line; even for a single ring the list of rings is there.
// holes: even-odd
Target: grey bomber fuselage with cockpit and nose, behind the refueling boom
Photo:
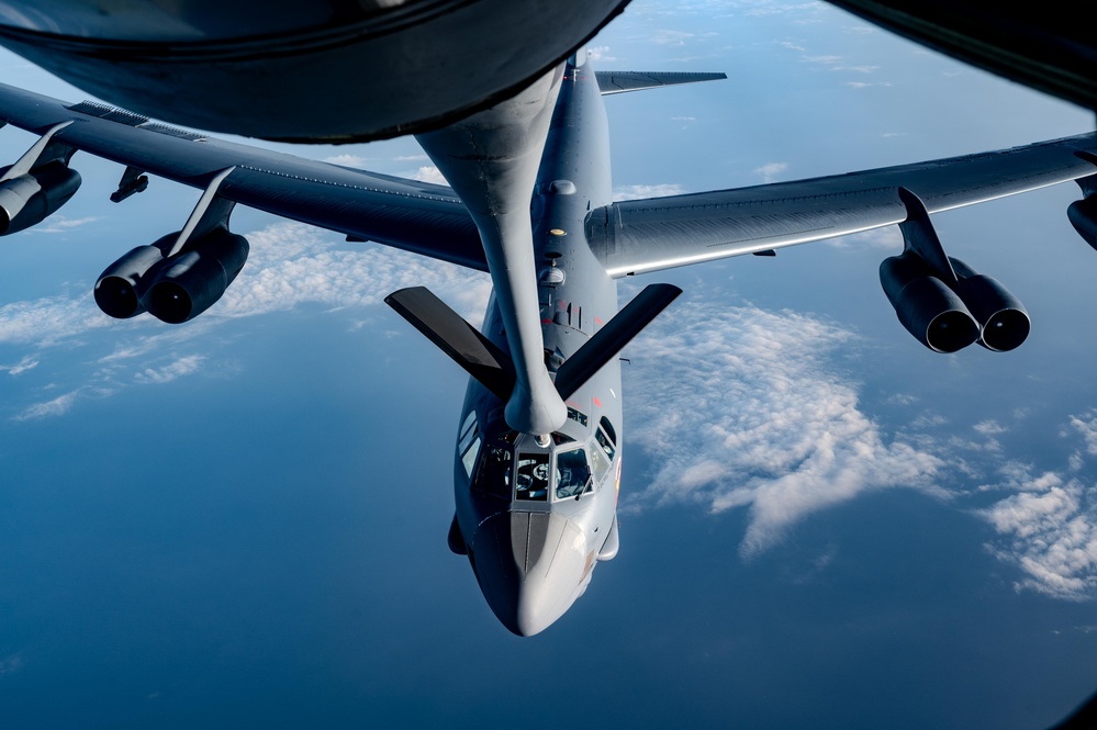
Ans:
[[[589,64],[566,67],[537,169],[530,221],[540,336],[550,373],[617,313],[617,285],[584,235],[612,202],[605,108]],[[494,273],[494,271],[493,271]],[[504,351],[495,295],[483,334]],[[492,610],[511,631],[537,633],[583,594],[598,560],[616,554],[620,366],[615,358],[566,405],[548,446],[507,425],[505,403],[471,379],[454,476],[456,527]]]

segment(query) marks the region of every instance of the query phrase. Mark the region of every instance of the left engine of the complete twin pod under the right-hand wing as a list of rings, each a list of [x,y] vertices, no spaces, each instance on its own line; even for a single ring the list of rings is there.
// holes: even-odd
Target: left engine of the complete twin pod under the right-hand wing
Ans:
[[[903,326],[929,349],[955,352],[978,339],[978,324],[967,307],[916,255],[884,259],[880,284]]]

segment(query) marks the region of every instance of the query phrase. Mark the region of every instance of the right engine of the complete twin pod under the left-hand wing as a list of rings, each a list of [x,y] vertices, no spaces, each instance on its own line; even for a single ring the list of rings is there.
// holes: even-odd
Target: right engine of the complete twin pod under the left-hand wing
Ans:
[[[141,297],[149,314],[168,324],[193,319],[220,300],[247,261],[243,236],[219,227],[161,265]]]

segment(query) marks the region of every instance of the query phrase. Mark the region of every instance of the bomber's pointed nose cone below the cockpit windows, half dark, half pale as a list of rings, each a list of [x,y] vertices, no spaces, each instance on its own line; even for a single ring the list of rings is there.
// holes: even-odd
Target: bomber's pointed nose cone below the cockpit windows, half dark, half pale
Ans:
[[[594,551],[571,520],[551,513],[501,513],[472,541],[477,579],[507,629],[530,637],[571,607],[591,577]]]

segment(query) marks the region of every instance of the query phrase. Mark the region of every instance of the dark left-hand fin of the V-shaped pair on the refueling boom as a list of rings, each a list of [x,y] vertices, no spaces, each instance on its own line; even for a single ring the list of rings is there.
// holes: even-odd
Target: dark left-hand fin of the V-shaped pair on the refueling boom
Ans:
[[[401,289],[385,296],[384,303],[412,323],[484,388],[504,401],[511,397],[515,379],[511,356],[449,308],[429,289]]]

